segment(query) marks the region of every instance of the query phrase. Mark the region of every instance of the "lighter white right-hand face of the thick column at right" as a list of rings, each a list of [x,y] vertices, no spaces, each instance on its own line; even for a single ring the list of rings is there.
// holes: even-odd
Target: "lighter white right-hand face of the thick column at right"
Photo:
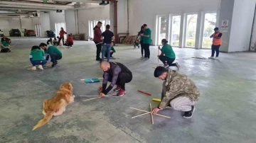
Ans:
[[[249,50],[254,13],[255,0],[235,0],[228,52]]]

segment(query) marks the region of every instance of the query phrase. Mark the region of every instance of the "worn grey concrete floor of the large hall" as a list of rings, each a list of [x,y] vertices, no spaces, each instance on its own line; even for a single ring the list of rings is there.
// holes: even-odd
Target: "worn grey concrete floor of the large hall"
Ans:
[[[133,73],[127,94],[117,98],[99,98],[83,102],[85,97],[98,95],[101,85],[85,84],[80,79],[102,77],[95,61],[93,42],[75,41],[73,49],[60,47],[63,59],[58,67],[43,71],[24,68],[30,65],[28,55],[33,45],[46,38],[12,38],[18,42],[10,53],[0,53],[0,142],[152,142],[152,143],[227,143],[256,142],[256,59],[253,52],[220,53],[220,59],[209,57],[210,50],[174,48],[181,65],[180,72],[189,76],[201,91],[193,118],[182,112],[165,109],[160,114],[171,119],[144,115],[129,107],[149,110],[158,105],[152,98],[161,98],[162,81],[154,78],[157,48],[150,47],[151,59],[141,60],[140,50],[119,45],[112,60],[126,65]],[[71,82],[75,103],[63,115],[32,131],[43,118],[43,101],[55,95],[60,84]],[[137,92],[151,93],[146,96]]]

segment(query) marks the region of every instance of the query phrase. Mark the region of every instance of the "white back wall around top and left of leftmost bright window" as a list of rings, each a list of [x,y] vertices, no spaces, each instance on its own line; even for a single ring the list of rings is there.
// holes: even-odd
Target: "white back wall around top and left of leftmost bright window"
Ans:
[[[50,30],[55,31],[55,23],[65,23],[65,11],[56,13],[56,11],[50,11]]]

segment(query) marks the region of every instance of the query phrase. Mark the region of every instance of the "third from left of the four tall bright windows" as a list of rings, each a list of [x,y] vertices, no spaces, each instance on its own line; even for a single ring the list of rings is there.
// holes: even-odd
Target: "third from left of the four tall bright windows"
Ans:
[[[186,21],[186,47],[195,47],[197,14],[188,14]]]

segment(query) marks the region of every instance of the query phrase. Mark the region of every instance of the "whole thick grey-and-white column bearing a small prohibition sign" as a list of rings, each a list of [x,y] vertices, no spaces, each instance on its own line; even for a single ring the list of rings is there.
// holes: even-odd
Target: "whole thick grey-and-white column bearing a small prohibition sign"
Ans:
[[[255,13],[255,0],[222,0],[220,3],[219,28],[223,33],[220,51],[247,51]],[[227,21],[226,27],[223,21]]]

